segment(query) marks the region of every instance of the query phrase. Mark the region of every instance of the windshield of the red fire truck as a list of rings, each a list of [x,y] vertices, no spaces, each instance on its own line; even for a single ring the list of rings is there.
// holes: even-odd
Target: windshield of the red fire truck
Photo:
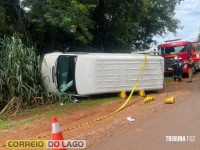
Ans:
[[[187,52],[186,46],[174,46],[174,47],[164,47],[159,48],[161,54],[177,54]]]

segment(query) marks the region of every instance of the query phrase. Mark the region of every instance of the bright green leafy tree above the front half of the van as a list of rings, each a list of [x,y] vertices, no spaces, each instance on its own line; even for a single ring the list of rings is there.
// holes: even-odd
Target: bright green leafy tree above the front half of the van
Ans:
[[[29,31],[40,48],[55,50],[63,45],[86,44],[92,39],[89,10],[93,5],[76,0],[24,0],[23,6],[30,9]]]

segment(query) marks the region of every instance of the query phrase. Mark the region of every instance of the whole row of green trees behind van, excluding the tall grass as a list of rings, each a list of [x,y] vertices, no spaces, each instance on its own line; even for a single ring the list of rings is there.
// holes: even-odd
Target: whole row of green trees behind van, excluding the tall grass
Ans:
[[[176,32],[181,0],[0,0],[0,38],[13,33],[50,51],[127,52]],[[69,49],[70,48],[70,49]]]

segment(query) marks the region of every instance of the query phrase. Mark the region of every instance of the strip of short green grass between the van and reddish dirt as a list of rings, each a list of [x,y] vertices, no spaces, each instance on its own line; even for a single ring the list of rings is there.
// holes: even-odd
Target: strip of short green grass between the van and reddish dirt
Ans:
[[[23,124],[26,126],[34,120],[48,118],[53,115],[61,114],[70,114],[75,110],[87,109],[89,107],[99,106],[99,105],[109,105],[118,100],[118,97],[109,97],[109,98],[94,98],[81,101],[81,103],[67,103],[64,106],[59,105],[58,103],[43,105],[33,109],[24,109],[22,112],[19,112],[15,116],[11,114],[2,114],[0,115],[0,130],[10,128],[16,124]],[[29,116],[23,119],[20,117]],[[16,117],[19,118],[16,120]]]

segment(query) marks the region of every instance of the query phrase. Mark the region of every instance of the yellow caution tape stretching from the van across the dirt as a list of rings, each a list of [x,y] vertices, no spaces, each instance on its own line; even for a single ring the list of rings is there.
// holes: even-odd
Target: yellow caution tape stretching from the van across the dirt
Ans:
[[[134,93],[134,91],[135,91],[135,89],[136,89],[136,87],[137,87],[137,85],[138,85],[138,81],[139,81],[139,79],[140,79],[141,76],[142,76],[142,73],[143,73],[143,71],[144,71],[144,68],[145,68],[145,65],[146,65],[146,62],[147,62],[147,55],[145,54],[144,56],[145,56],[145,57],[144,57],[144,60],[143,60],[143,62],[142,62],[142,64],[141,64],[140,74],[139,74],[139,76],[137,77],[137,80],[135,81],[135,83],[134,83],[134,85],[133,85],[133,88],[132,88],[132,90],[131,90],[131,93],[129,94],[129,96],[128,96],[128,98],[126,99],[126,101],[125,101],[117,110],[115,110],[114,112],[112,112],[112,113],[110,113],[110,114],[108,114],[108,115],[105,115],[105,116],[103,116],[103,117],[96,118],[96,119],[94,119],[94,120],[92,120],[92,121],[89,121],[89,122],[86,122],[86,123],[83,123],[83,124],[79,124],[79,125],[74,126],[74,127],[71,127],[71,128],[64,129],[64,130],[62,130],[61,132],[65,132],[65,131],[68,131],[68,130],[76,129],[76,128],[78,128],[78,127],[82,127],[82,126],[85,126],[85,125],[88,125],[88,124],[92,124],[92,123],[94,123],[94,122],[97,122],[97,121],[106,119],[106,118],[108,118],[108,117],[113,116],[114,114],[116,114],[116,113],[119,112],[120,110],[122,110],[122,109],[128,104],[129,100],[131,99],[131,97],[132,97],[132,95],[133,95],[133,93]],[[50,134],[48,134],[48,135],[41,135],[41,136],[38,136],[38,137],[36,137],[36,138],[34,138],[34,139],[44,138],[44,137],[47,137],[47,136],[49,136],[49,135],[50,135]],[[34,139],[30,139],[30,140],[34,140]],[[6,145],[0,145],[0,147],[5,147],[5,146],[6,146]]]

